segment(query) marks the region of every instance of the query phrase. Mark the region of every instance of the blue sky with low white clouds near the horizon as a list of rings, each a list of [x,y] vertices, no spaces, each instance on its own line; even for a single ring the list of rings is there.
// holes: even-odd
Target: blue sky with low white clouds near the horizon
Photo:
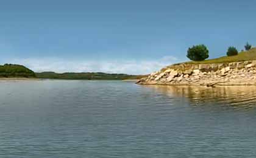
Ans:
[[[1,0],[0,64],[35,72],[149,74],[205,44],[256,46],[255,0]]]

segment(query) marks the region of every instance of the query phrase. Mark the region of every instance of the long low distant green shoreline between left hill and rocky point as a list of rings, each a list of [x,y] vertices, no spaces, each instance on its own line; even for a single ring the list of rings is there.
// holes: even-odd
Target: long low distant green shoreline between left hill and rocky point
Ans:
[[[55,72],[36,73],[37,78],[64,79],[64,80],[136,80],[141,78],[137,75],[127,74],[105,74],[102,72],[66,72],[58,74]]]

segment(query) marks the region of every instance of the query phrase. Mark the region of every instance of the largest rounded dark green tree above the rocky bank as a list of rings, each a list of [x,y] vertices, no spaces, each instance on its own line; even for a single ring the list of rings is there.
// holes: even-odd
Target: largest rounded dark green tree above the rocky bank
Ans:
[[[203,61],[209,57],[209,50],[204,44],[188,48],[187,57],[193,61]]]

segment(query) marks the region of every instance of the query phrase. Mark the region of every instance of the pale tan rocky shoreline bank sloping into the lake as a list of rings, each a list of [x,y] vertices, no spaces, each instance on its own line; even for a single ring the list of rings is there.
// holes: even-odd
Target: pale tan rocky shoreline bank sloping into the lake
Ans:
[[[141,78],[137,84],[241,86],[256,85],[256,60],[219,64],[174,64]]]

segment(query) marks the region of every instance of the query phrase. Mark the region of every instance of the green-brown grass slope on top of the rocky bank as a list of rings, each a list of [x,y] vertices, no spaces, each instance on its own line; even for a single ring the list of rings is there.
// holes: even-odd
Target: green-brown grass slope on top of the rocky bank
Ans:
[[[238,55],[231,56],[231,57],[221,57],[212,60],[204,60],[204,61],[188,61],[185,63],[179,64],[215,64],[215,63],[232,63],[238,61],[248,61],[248,60],[256,60],[256,47],[238,53]]]

